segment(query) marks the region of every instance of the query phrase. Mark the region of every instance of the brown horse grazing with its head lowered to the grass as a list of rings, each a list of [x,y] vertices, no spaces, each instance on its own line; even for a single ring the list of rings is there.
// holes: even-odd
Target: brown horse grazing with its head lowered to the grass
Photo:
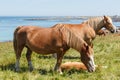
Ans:
[[[73,28],[73,25],[70,26]],[[76,29],[81,28],[81,25],[76,26]],[[90,33],[90,35],[95,36],[94,30],[90,29],[89,31],[86,31],[85,29],[82,29],[82,33],[84,34],[81,35],[81,37],[89,37],[87,32]],[[51,28],[21,26],[16,28],[13,43],[16,53],[15,70],[19,71],[20,69],[19,60],[21,52],[23,48],[26,47],[26,58],[30,71],[33,70],[31,54],[32,51],[34,51],[39,54],[57,53],[57,62],[54,70],[62,73],[60,69],[62,58],[65,52],[71,47],[80,52],[81,61],[85,64],[89,72],[93,72],[95,70],[93,48],[92,46],[89,46],[79,35],[77,35],[77,33],[79,32],[73,32],[70,28],[64,26],[54,26]]]

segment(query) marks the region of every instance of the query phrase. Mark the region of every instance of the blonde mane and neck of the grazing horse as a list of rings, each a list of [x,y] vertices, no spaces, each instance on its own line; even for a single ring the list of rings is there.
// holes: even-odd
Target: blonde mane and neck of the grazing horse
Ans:
[[[76,49],[77,51],[81,50],[83,44],[87,44],[82,38],[75,35],[75,33],[68,27],[69,24],[57,24],[53,26],[54,28],[58,29],[62,35],[66,37],[67,45],[71,48]]]

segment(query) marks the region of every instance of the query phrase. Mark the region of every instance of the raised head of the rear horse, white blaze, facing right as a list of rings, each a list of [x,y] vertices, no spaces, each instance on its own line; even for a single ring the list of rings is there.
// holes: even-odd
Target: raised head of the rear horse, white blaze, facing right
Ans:
[[[112,23],[112,19],[108,16],[104,16],[104,27],[108,29],[111,33],[116,32],[116,27]]]

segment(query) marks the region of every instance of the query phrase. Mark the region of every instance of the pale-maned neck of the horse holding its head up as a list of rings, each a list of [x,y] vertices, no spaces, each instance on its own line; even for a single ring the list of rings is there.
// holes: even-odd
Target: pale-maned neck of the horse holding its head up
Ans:
[[[85,23],[89,24],[89,26],[91,26],[95,30],[95,32],[98,32],[104,26],[104,21],[102,17],[89,19]]]

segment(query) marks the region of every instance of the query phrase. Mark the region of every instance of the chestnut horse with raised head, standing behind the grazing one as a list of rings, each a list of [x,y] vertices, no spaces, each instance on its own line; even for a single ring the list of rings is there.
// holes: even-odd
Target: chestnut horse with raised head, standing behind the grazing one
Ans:
[[[55,27],[56,26],[64,26],[70,28],[72,32],[75,32],[76,35],[84,39],[88,45],[91,45],[92,41],[95,39],[95,34],[91,32],[95,31],[97,34],[103,27],[112,33],[116,31],[116,27],[113,25],[112,19],[108,16],[90,18],[81,24],[57,24]],[[92,31],[91,28],[94,29],[94,31]]]

